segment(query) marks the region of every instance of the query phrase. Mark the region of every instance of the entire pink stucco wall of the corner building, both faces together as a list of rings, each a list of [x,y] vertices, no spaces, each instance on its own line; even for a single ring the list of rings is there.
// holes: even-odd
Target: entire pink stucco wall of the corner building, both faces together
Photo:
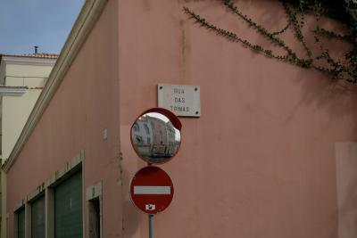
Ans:
[[[286,24],[278,2],[239,4],[271,29]],[[357,140],[355,86],[228,42],[184,5],[262,41],[219,1],[109,1],[8,173],[10,227],[13,206],[84,150],[85,186],[104,183],[104,237],[147,237],[127,193],[145,166],[129,128],[168,83],[201,86],[202,116],[181,118],[180,152],[161,166],[175,197],[157,237],[337,237],[335,144]]]

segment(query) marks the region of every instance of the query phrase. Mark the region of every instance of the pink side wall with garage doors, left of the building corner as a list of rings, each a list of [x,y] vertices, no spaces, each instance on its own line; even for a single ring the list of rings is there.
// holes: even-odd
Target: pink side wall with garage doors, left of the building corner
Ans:
[[[117,8],[116,1],[105,7],[8,173],[9,237],[13,237],[14,206],[80,150],[85,152],[84,187],[103,182],[104,237],[120,235]],[[108,129],[106,141],[104,128]],[[83,198],[86,207],[86,190]]]

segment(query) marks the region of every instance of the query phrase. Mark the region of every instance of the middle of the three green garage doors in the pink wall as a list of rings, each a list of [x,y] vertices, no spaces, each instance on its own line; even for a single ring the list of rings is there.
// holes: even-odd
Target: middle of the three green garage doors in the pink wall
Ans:
[[[31,203],[31,237],[45,238],[45,196]]]

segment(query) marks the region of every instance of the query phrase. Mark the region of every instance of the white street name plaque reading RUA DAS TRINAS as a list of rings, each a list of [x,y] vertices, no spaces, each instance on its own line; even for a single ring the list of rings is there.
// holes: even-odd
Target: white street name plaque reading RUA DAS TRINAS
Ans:
[[[158,106],[181,117],[200,117],[200,86],[159,84]]]

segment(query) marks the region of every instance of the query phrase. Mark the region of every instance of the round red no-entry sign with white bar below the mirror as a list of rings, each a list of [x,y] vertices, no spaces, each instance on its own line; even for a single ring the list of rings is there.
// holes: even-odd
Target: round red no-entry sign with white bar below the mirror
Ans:
[[[169,207],[173,198],[170,176],[155,166],[141,168],[131,180],[130,198],[145,213],[161,212]]]

